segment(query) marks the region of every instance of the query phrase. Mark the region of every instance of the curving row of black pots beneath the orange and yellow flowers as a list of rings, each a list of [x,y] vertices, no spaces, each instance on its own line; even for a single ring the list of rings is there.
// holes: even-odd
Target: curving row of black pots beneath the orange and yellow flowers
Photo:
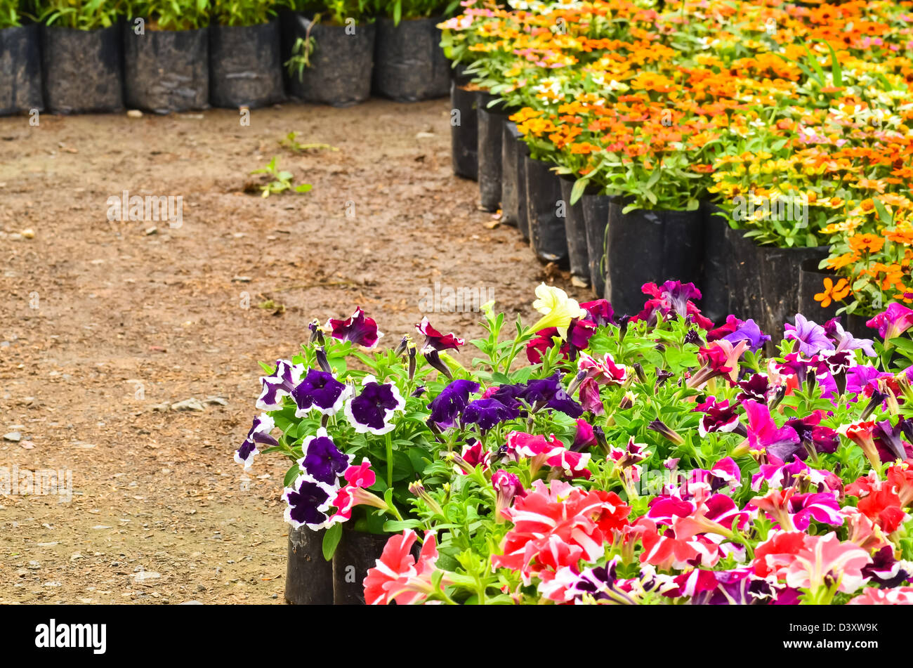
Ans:
[[[454,172],[477,179],[482,208],[500,207],[502,222],[516,225],[541,261],[569,268],[616,312],[637,313],[645,283],[677,279],[700,287],[700,307],[712,321],[730,313],[752,318],[774,340],[797,312],[824,318],[812,300],[822,276],[801,280],[800,270],[807,261],[817,271],[827,246],[756,245],[708,203],[694,211],[624,213],[622,199],[585,191],[572,205],[572,180],[530,159],[509,110],[471,88],[460,75],[451,88],[453,113],[461,120],[452,127]]]

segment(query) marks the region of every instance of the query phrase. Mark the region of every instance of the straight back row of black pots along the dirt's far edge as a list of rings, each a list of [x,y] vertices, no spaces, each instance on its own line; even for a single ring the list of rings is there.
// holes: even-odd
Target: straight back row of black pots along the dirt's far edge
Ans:
[[[414,101],[446,95],[449,66],[438,19],[354,26],[310,25],[295,13],[259,26],[99,30],[22,26],[0,30],[0,115],[90,113],[124,106],[156,113],[257,108],[289,97],[348,106],[372,90]],[[298,37],[317,47],[298,78],[283,62]]]

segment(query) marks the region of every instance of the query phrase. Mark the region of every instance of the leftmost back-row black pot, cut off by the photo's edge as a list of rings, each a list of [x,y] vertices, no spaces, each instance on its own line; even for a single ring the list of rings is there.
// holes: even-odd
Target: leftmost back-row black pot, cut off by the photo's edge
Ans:
[[[38,26],[0,30],[0,116],[44,110]]]

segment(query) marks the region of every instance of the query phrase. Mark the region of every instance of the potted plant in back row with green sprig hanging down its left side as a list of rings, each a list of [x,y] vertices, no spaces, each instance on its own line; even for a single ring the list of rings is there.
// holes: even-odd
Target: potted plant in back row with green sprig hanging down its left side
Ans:
[[[371,96],[374,23],[368,0],[294,2],[289,94],[348,107]],[[302,14],[305,13],[305,14]]]

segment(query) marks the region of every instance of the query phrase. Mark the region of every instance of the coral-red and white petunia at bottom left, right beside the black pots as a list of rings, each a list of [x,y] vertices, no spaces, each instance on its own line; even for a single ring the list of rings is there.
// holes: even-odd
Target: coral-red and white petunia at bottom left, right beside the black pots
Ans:
[[[368,569],[363,582],[364,601],[368,605],[387,605],[393,601],[400,605],[421,603],[434,592],[431,576],[437,562],[435,532],[425,531],[418,561],[412,554],[417,538],[413,529],[387,538],[381,558],[373,569]]]

